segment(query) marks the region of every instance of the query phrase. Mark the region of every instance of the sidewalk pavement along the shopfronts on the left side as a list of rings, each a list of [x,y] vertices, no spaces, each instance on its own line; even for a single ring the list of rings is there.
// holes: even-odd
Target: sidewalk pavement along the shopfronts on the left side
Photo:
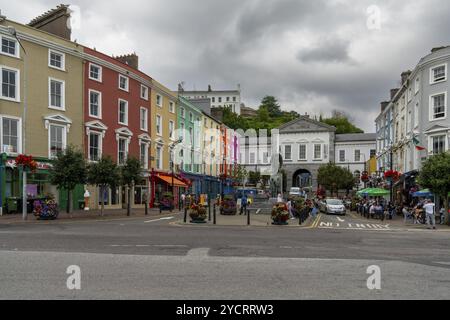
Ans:
[[[105,209],[103,210],[103,216],[101,215],[100,210],[74,210],[71,214],[66,213],[65,211],[60,211],[58,218],[56,220],[38,220],[32,213],[29,213],[27,216],[27,220],[22,219],[22,214],[4,214],[0,216],[0,223],[42,223],[42,222],[67,222],[67,221],[92,221],[92,220],[116,220],[116,219],[130,219],[130,218],[139,218],[139,217],[154,217],[160,215],[173,214],[177,215],[180,212],[178,209],[170,211],[162,211],[159,212],[158,208],[149,208],[148,215],[145,215],[144,208],[131,209],[130,216],[127,216],[126,209]]]

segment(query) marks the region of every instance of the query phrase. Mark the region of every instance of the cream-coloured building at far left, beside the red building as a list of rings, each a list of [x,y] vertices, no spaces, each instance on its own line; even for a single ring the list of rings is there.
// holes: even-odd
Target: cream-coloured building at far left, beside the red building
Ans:
[[[0,17],[0,37],[0,145],[8,155],[2,198],[21,194],[14,168],[18,154],[38,160],[38,172],[28,177],[28,192],[58,196],[48,183],[49,159],[69,144],[82,150],[82,48],[5,17]]]

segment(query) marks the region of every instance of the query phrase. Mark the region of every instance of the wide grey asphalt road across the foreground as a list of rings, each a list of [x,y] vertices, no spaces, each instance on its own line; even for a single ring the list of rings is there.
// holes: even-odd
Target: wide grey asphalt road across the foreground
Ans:
[[[449,298],[450,232],[348,228],[362,225],[354,216],[310,229],[169,218],[0,223],[0,299]],[[80,290],[66,285],[73,265]],[[372,265],[380,290],[367,287]]]

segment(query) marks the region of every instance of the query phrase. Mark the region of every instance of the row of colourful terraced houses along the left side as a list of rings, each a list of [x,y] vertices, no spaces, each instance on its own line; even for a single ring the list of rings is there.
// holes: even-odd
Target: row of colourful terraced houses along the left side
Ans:
[[[66,192],[48,180],[51,160],[68,145],[87,161],[111,156],[119,165],[139,158],[144,179],[131,193],[134,207],[158,204],[162,194],[228,193],[239,154],[236,134],[204,101],[183,98],[138,69],[136,54],[112,57],[70,40],[70,11],[61,5],[24,25],[0,16],[0,200],[22,196],[19,154],[38,170],[27,177],[28,196]],[[90,207],[128,203],[122,187],[100,194],[80,185],[74,205],[90,192]]]

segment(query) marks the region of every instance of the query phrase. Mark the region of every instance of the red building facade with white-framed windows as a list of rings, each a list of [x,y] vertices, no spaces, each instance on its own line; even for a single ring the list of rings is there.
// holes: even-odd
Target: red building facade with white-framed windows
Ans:
[[[146,179],[135,186],[131,203],[143,205],[149,192],[152,79],[137,70],[137,56],[126,56],[135,59],[126,64],[89,48],[84,52],[86,158],[98,161],[102,156],[111,156],[119,165],[128,157],[140,159]],[[133,64],[136,68],[131,67]],[[127,203],[127,193],[122,189],[118,187],[100,194],[97,188],[90,186],[91,207],[98,207],[101,199],[106,207],[123,207]]]

